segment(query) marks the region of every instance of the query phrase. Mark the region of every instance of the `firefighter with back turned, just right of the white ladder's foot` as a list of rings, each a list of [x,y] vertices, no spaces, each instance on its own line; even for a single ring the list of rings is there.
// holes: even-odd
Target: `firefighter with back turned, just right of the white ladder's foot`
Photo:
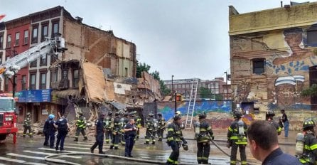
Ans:
[[[197,161],[198,164],[208,164],[210,153],[210,141],[215,137],[206,119],[205,112],[200,113],[199,122],[195,123],[195,139],[197,139]]]

